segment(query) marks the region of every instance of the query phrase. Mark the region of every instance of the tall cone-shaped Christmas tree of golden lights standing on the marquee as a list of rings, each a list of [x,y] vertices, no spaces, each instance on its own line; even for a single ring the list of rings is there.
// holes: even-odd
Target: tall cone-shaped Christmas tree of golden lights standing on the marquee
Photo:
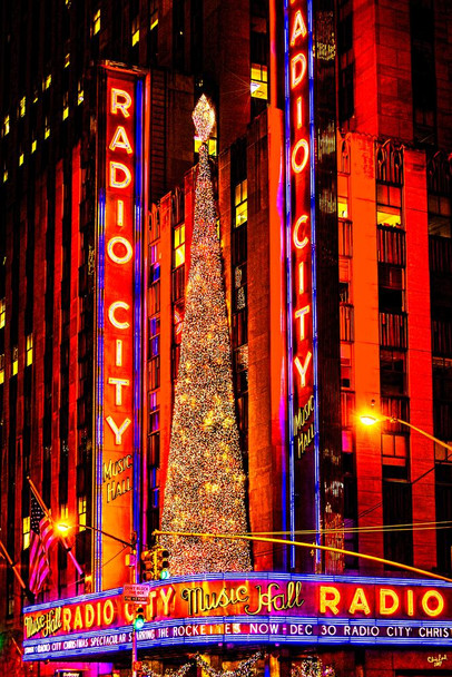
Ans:
[[[244,533],[245,474],[207,149],[215,112],[204,95],[193,119],[203,143],[161,529]],[[161,541],[173,576],[250,569],[247,541],[176,536]]]

